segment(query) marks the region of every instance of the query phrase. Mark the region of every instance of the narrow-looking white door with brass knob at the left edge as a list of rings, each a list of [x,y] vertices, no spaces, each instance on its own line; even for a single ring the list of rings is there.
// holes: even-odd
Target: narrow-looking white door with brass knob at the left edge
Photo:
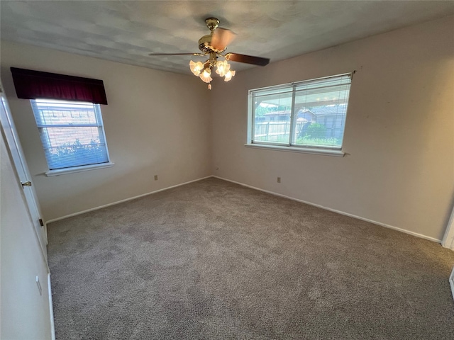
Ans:
[[[13,118],[11,116],[11,111],[9,111],[8,101],[3,91],[3,86],[1,86],[0,81],[0,96],[1,96],[1,105],[0,105],[0,121],[1,128],[4,130],[6,142],[8,143],[8,148],[11,152],[13,158],[14,166],[21,181],[23,187],[23,193],[26,197],[26,202],[28,205],[28,210],[33,220],[33,225],[35,226],[35,231],[38,236],[41,249],[45,259],[48,258],[46,245],[48,244],[48,235],[46,228],[44,227],[43,220],[41,220],[40,207],[38,205],[38,200],[36,198],[35,189],[33,188],[33,183],[31,181],[30,173],[28,172],[28,166],[26,163],[25,157],[23,157],[23,151],[21,147],[21,142],[19,142],[16,128],[14,127]]]

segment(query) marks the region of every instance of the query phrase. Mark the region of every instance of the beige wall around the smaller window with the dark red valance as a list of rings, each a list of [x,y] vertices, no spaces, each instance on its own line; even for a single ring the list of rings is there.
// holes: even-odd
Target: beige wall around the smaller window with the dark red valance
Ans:
[[[31,105],[16,97],[10,67],[102,79],[109,105],[101,111],[115,166],[46,177]],[[206,87],[195,77],[2,41],[1,79],[45,220],[211,174],[210,114],[201,106]]]

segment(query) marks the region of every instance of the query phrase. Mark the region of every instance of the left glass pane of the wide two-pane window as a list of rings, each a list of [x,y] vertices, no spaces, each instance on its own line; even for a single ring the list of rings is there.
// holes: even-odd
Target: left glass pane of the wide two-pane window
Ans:
[[[292,92],[254,99],[253,141],[289,144]]]

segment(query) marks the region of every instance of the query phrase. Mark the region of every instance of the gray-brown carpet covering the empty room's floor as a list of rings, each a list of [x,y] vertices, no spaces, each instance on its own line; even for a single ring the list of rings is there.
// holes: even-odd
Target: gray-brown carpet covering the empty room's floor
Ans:
[[[454,339],[454,251],[226,181],[48,232],[57,340]]]

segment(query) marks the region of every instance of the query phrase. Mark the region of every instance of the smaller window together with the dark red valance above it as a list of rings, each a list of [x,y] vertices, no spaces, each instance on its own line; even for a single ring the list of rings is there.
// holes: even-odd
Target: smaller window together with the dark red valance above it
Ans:
[[[107,105],[104,81],[17,67],[11,74],[17,98],[31,100],[47,176],[114,165],[99,108]]]

